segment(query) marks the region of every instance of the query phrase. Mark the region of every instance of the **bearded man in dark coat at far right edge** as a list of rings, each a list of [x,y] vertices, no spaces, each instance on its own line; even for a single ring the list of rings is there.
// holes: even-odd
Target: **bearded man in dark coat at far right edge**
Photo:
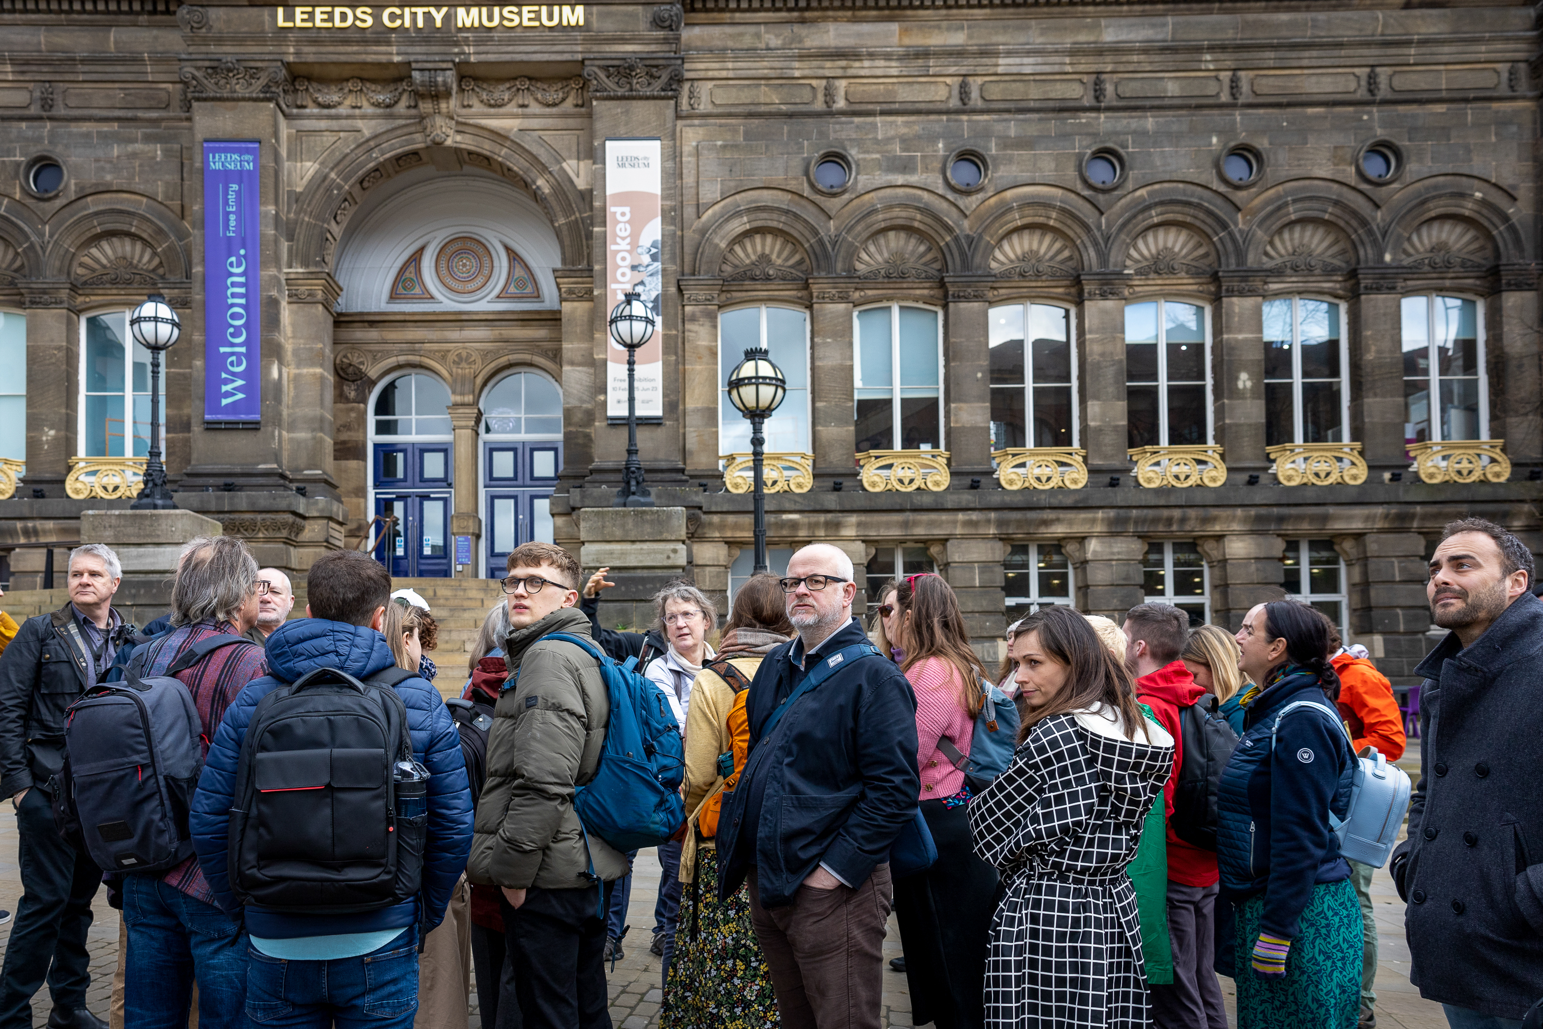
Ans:
[[[1415,671],[1420,784],[1390,870],[1409,902],[1410,981],[1452,1029],[1515,1029],[1543,998],[1543,602],[1532,554],[1452,521],[1426,595],[1452,629]]]

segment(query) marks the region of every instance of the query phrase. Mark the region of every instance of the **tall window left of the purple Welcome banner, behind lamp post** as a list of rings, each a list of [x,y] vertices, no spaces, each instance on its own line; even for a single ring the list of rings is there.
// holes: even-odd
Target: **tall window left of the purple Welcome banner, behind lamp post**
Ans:
[[[162,376],[162,401],[165,381]],[[79,457],[145,457],[150,452],[150,350],[128,335],[127,310],[80,319],[80,392]],[[162,403],[162,438],[165,432],[167,406]]]

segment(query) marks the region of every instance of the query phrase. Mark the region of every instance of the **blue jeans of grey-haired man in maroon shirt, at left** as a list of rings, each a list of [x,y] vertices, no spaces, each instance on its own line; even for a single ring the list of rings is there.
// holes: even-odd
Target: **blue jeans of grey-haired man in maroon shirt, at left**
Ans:
[[[204,1029],[247,1024],[247,933],[213,904],[156,876],[123,876],[128,964],[123,1021],[134,1029],[181,1029],[193,983]]]

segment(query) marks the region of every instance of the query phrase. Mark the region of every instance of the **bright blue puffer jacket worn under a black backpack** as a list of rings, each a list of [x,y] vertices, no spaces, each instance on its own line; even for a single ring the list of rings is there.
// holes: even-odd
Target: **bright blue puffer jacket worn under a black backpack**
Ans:
[[[281,683],[295,682],[316,668],[338,668],[364,679],[397,663],[386,637],[375,629],[324,619],[285,622],[268,637],[265,656],[272,674],[247,683],[225,711],[208,747],[188,819],[204,878],[219,906],[231,913],[239,902],[230,889],[225,856],[230,805],[241,744],[258,702]],[[397,683],[397,693],[407,705],[414,756],[429,768],[429,839],[420,898],[427,904],[426,924],[432,929],[444,918],[455,881],[466,870],[472,847],[472,793],[466,785],[460,734],[438,691],[423,679],[406,679]],[[406,929],[418,921],[414,901],[360,915],[276,915],[256,906],[247,907],[245,913],[247,930],[267,940]]]

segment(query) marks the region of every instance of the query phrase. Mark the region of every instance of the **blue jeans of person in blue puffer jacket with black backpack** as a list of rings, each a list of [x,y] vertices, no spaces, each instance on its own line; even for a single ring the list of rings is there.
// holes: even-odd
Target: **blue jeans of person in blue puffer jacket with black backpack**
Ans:
[[[284,961],[256,949],[250,955],[247,1015],[258,1026],[410,1029],[418,1014],[417,929],[356,958]]]

